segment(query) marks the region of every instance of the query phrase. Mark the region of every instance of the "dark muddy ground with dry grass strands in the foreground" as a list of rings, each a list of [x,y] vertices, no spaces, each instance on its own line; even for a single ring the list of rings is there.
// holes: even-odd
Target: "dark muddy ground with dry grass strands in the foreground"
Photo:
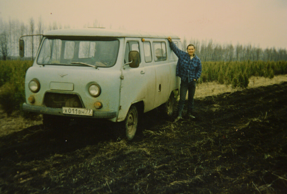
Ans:
[[[196,99],[194,116],[153,110],[133,142],[88,120],[2,136],[0,193],[287,193],[287,82]]]

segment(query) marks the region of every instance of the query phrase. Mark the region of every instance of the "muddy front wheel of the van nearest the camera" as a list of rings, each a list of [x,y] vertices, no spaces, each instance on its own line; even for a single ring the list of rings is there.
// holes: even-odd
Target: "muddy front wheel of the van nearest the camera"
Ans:
[[[138,110],[137,107],[132,105],[129,108],[129,112],[126,115],[125,120],[125,129],[126,129],[126,138],[132,140],[136,134],[138,128]]]

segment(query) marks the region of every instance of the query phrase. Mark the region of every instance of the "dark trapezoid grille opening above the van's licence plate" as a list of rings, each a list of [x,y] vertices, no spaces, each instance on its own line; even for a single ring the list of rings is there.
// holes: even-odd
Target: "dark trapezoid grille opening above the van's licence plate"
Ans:
[[[83,108],[83,104],[81,103],[79,96],[76,94],[61,94],[53,92],[47,92],[45,94],[44,105],[51,108]]]

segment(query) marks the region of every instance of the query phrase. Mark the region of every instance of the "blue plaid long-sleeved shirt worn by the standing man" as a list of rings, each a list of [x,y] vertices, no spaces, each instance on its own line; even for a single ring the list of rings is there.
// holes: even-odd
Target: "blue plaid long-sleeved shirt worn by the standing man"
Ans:
[[[190,59],[189,54],[180,50],[173,42],[170,43],[170,48],[178,57],[176,76],[186,82],[191,82],[194,79],[198,80],[201,75],[200,59],[196,55],[193,59]]]

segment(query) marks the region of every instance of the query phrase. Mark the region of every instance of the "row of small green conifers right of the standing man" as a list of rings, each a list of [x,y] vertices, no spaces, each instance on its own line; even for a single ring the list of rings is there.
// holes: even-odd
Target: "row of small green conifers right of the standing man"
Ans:
[[[202,62],[199,82],[217,81],[245,88],[251,76],[273,78],[283,74],[287,74],[287,61]]]

